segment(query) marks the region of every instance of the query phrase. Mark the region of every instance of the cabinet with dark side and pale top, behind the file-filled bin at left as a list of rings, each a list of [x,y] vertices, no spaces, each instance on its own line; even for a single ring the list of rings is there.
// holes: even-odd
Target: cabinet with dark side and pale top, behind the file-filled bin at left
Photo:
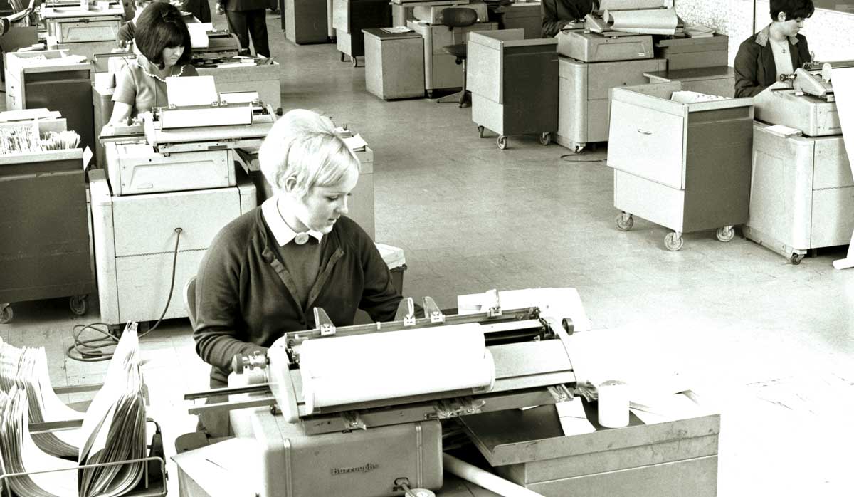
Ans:
[[[44,56],[46,61],[33,61]],[[80,135],[80,148],[95,149],[91,64],[69,62],[67,50],[6,54],[6,108],[50,108]]]

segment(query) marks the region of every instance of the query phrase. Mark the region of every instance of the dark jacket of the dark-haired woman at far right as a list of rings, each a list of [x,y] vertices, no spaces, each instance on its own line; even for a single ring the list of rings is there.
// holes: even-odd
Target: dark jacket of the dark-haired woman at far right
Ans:
[[[774,50],[768,43],[768,32],[769,26],[765,26],[762,31],[741,42],[733,63],[736,97],[755,96],[777,80],[777,65],[774,62]],[[811,60],[810,47],[804,35],[789,37],[789,54],[794,69]]]

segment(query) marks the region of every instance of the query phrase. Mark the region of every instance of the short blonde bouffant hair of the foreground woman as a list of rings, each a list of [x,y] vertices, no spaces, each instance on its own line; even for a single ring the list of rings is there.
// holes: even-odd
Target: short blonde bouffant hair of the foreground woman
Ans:
[[[338,184],[360,172],[359,159],[336,133],[332,121],[302,108],[276,121],[261,143],[258,160],[273,190],[284,191],[285,182],[295,178],[299,197],[315,186]]]

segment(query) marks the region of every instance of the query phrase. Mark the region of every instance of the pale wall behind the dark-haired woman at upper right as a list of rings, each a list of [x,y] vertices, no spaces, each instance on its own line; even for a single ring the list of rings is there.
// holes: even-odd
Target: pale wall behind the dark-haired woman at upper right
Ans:
[[[753,9],[756,8],[756,26]],[[771,21],[768,0],[676,0],[676,14],[687,24],[704,24],[729,37],[729,65],[739,45]],[[819,61],[854,58],[854,14],[817,9],[804,23],[804,36]]]

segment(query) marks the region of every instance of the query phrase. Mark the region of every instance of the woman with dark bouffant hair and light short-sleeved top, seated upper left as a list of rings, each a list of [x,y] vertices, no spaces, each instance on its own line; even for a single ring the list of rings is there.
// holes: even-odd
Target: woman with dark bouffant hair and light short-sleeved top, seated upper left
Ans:
[[[167,78],[199,75],[190,65],[190,32],[173,5],[158,2],[146,7],[137,18],[134,38],[141,55],[116,77],[111,125],[166,107]]]

